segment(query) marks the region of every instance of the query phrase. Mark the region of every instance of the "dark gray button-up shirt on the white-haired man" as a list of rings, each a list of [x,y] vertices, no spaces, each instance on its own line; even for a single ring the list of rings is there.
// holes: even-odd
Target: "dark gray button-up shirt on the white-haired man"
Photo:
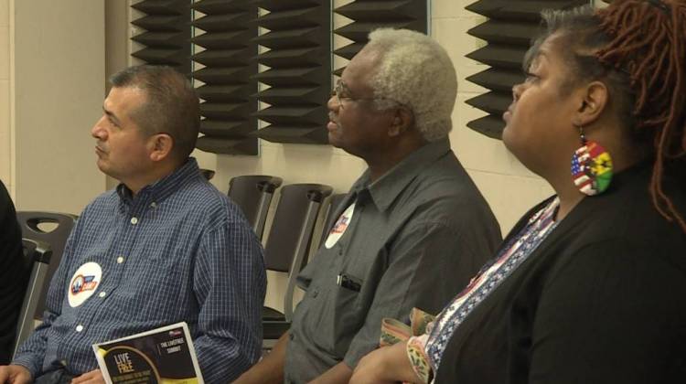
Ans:
[[[340,207],[356,203],[338,242],[298,277],[286,382],[306,382],[341,361],[355,368],[379,346],[381,318],[437,314],[494,253],[500,230],[450,150],[426,144],[376,182],[360,176]]]

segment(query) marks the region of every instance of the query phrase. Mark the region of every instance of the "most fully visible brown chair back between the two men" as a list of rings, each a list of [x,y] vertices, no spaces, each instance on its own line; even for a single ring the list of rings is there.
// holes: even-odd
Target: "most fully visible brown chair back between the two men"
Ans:
[[[284,297],[284,316],[288,322],[293,316],[295,277],[307,262],[316,219],[322,202],[332,191],[332,187],[321,184],[291,184],[281,188],[264,247],[264,261],[268,270],[288,273]]]

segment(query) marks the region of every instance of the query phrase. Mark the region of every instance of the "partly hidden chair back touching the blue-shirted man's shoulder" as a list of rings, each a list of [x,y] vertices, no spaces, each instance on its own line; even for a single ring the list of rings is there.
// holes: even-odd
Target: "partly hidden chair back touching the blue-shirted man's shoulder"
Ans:
[[[266,175],[235,176],[229,181],[229,198],[241,208],[260,240],[273,193],[281,183],[281,177]]]

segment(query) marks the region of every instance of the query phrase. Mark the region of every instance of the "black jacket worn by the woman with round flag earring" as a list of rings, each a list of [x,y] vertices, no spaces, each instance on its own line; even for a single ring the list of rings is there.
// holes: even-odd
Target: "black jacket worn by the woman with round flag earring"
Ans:
[[[436,382],[686,382],[686,234],[652,206],[649,178],[635,166],[573,208],[456,329]]]

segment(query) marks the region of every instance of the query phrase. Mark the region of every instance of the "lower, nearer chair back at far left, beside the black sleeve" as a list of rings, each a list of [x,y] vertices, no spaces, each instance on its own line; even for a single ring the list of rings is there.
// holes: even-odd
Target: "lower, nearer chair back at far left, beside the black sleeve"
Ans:
[[[16,322],[15,346],[12,349],[13,356],[16,354],[18,347],[33,331],[38,304],[45,302],[45,297],[41,297],[41,295],[43,295],[43,283],[48,276],[48,265],[52,255],[50,246],[44,241],[22,239],[22,243],[24,245],[24,260],[27,266],[30,267],[31,275],[28,278],[27,291],[24,293],[24,302],[21,305]]]

